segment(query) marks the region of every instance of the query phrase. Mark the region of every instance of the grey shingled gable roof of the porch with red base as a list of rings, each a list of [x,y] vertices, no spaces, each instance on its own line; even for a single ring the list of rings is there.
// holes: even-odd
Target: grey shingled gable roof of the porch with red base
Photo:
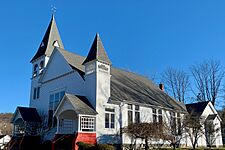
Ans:
[[[65,97],[74,107],[74,111],[77,114],[96,115],[97,112],[89,103],[85,96],[71,95],[66,93]]]

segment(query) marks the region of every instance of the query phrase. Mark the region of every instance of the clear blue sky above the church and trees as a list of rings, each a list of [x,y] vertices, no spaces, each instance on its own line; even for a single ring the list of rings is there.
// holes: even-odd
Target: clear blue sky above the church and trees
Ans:
[[[114,66],[148,77],[168,66],[188,70],[208,58],[225,65],[225,1],[1,1],[0,112],[29,105],[29,61],[50,21],[51,5],[65,49],[83,56],[99,32]]]

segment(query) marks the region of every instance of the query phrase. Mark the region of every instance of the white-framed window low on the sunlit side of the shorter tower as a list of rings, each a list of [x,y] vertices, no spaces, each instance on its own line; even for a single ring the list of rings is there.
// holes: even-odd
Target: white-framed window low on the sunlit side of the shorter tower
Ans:
[[[105,128],[115,128],[114,108],[105,108]]]

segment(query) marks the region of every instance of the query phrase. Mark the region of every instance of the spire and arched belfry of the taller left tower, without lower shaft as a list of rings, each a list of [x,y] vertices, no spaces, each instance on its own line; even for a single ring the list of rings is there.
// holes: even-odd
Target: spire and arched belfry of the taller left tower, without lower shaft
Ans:
[[[36,54],[30,61],[33,64],[32,78],[42,74],[54,47],[64,48],[56,25],[55,17],[52,15],[41,44]]]

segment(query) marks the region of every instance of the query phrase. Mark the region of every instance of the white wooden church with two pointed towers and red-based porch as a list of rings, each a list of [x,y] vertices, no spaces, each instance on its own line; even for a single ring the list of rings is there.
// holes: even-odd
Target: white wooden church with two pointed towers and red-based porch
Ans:
[[[199,103],[185,105],[168,96],[162,84],[158,87],[144,76],[114,67],[99,34],[87,53],[84,57],[64,49],[52,16],[30,61],[30,104],[17,107],[14,113],[14,137],[41,134],[36,130],[41,125],[43,140],[52,141],[52,149],[60,149],[63,139],[69,141],[68,149],[77,149],[80,141],[130,144],[129,136],[120,133],[128,124],[177,121],[189,111],[210,116],[220,126],[210,102],[201,105],[201,110]],[[222,145],[221,131],[218,134],[215,146]],[[198,146],[207,146],[204,139]],[[191,146],[188,139],[182,142]]]

